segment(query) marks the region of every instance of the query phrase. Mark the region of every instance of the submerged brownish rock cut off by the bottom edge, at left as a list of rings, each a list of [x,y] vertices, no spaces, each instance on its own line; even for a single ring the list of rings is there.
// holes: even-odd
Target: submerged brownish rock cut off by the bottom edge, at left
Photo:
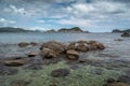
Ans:
[[[28,86],[28,84],[30,84],[30,82],[26,82],[24,80],[15,80],[11,82],[11,86]]]

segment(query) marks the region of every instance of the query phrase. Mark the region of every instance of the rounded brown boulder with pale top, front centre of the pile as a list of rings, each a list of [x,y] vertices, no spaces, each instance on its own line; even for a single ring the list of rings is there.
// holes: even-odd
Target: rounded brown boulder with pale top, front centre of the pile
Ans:
[[[70,60],[77,60],[79,58],[78,52],[74,51],[74,49],[69,49],[67,51],[67,58]]]

